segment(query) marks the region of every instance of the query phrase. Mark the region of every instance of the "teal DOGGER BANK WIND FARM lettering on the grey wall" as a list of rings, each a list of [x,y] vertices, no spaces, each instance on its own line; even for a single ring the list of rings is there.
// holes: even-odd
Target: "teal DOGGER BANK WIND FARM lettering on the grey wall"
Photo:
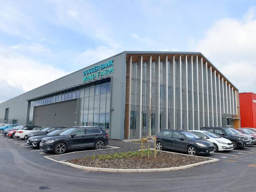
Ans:
[[[114,60],[112,59],[100,65],[96,65],[92,68],[84,70],[83,82],[95,79],[96,77],[112,74],[114,72],[113,62]]]

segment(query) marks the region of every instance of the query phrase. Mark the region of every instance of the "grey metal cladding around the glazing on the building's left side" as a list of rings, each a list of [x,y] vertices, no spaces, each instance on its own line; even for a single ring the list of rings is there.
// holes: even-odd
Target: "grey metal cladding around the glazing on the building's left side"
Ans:
[[[124,137],[124,96],[125,96],[125,73],[126,71],[126,54],[124,52],[117,54],[116,56],[107,58],[86,68],[68,74],[62,78],[54,80],[29,92],[26,92],[20,96],[12,98],[6,102],[0,104],[0,118],[4,117],[5,108],[10,108],[8,120],[18,119],[19,124],[26,124],[27,111],[28,111],[28,101],[31,98],[36,98],[51,92],[56,92],[58,90],[65,90],[69,87],[74,87],[78,84],[83,84],[83,71],[87,68],[92,68],[98,64],[102,64],[110,59],[114,59],[114,73],[112,78],[112,106],[114,108],[112,113],[112,138],[123,138]],[[0,119],[3,122],[3,119]],[[122,127],[122,128],[120,128]]]

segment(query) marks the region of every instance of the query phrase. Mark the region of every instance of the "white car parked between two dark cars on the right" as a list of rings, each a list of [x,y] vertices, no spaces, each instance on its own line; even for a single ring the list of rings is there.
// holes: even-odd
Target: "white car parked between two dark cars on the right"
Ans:
[[[206,139],[213,143],[214,145],[214,152],[217,151],[226,151],[226,150],[232,150],[233,144],[230,140],[220,137],[212,132],[209,131],[201,131],[201,130],[194,130],[190,131],[200,138]]]

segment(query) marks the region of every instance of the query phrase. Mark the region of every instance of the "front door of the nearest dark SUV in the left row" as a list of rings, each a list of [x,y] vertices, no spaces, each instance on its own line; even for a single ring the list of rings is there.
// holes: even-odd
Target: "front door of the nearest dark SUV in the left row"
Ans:
[[[84,148],[85,147],[85,128],[79,128],[75,130],[69,137],[68,147],[71,149]]]

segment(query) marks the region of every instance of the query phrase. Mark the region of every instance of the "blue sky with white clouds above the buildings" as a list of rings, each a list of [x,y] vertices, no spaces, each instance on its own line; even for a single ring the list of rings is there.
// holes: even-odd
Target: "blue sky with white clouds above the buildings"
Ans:
[[[256,1],[0,0],[0,103],[124,50],[202,52],[256,93]]]

